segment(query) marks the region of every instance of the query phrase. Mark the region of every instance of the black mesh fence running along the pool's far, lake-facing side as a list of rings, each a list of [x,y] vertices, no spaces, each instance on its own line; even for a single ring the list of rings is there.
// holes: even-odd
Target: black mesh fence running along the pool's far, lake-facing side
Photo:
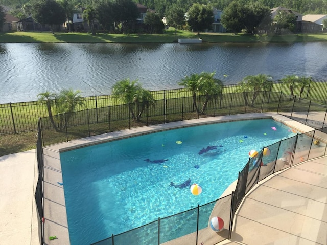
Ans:
[[[251,97],[252,93],[245,96]],[[141,120],[134,120],[130,113],[131,104],[108,106],[98,109],[81,110],[75,113],[56,115],[40,119],[43,145],[100,135],[133,127],[183,121],[204,117],[225,116],[246,113],[275,112],[298,120],[314,128],[327,125],[327,106],[305,99],[295,99],[281,92],[261,92],[258,104],[248,106],[244,94],[225,94],[206,105],[205,114],[198,113],[192,97],[157,100],[156,107],[146,108]],[[269,103],[268,103],[269,100]],[[204,96],[197,97],[203,104]],[[134,108],[137,106],[134,104]]]

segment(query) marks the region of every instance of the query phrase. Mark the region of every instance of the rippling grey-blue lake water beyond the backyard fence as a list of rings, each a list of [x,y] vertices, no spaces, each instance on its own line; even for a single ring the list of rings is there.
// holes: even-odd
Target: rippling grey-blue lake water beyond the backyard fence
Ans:
[[[180,88],[192,73],[216,71],[225,84],[264,73],[327,77],[327,42],[293,44],[0,44],[0,103],[34,101],[46,90],[111,94],[120,80],[138,79],[144,88]],[[224,76],[226,74],[227,76]]]

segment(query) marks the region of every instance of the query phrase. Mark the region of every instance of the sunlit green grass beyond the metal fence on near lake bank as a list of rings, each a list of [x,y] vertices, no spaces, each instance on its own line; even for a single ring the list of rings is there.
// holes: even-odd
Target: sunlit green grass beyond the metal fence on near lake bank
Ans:
[[[311,78],[308,80],[303,88],[299,82],[293,81],[292,84],[285,86],[282,81],[274,81],[269,91],[265,91],[266,95],[282,93],[285,96],[291,95],[290,86],[292,87],[294,96],[301,96],[302,98],[327,104],[327,81]],[[225,97],[230,97],[231,94],[239,92],[240,87],[238,84],[223,85],[223,94],[221,103],[228,103]],[[188,98],[192,96],[192,93],[184,88],[175,90],[163,90],[151,92],[155,100],[170,100],[178,98]],[[253,93],[253,92],[249,92]],[[240,93],[241,94],[241,93]],[[243,93],[242,93],[243,94]],[[120,105],[119,96],[115,95],[103,95],[103,96],[90,96],[83,97],[85,106],[77,106],[76,111],[82,109],[99,109],[108,106]],[[255,98],[255,104],[261,103],[261,98]],[[271,100],[265,100],[265,103],[276,102],[272,98]],[[56,104],[56,103],[55,103]],[[233,104],[234,105],[234,104]],[[236,104],[235,104],[236,105]],[[225,105],[226,106],[226,105]],[[160,107],[157,107],[160,109]],[[44,105],[41,105],[38,101],[21,102],[21,103],[8,103],[0,104],[0,135],[8,135],[11,133],[33,132],[37,131],[38,118],[49,116],[48,111]]]

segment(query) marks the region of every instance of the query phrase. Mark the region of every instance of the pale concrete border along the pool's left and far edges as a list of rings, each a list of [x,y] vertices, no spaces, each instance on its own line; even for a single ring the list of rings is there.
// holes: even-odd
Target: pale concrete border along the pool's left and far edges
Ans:
[[[240,120],[252,119],[267,119],[271,118],[275,121],[282,122],[287,126],[299,131],[309,132],[314,128],[303,125],[297,121],[289,119],[280,114],[274,113],[253,113],[253,114],[238,114],[219,117],[208,117],[200,119],[192,119],[187,121],[178,121],[166,124],[158,124],[151,126],[144,126],[138,128],[131,128],[103,135],[91,136],[88,138],[72,140],[55,145],[46,146],[43,148],[44,152],[44,173],[43,173],[43,209],[44,209],[44,241],[45,244],[49,242],[50,236],[57,236],[58,239],[52,240],[51,244],[69,245],[68,222],[66,216],[65,198],[64,198],[64,184],[62,183],[60,152],[73,150],[76,148],[87,147],[90,145],[101,144],[113,140],[135,137],[138,135],[145,135],[164,130],[172,130],[181,127],[190,127],[196,125],[205,125],[222,122],[232,122]],[[234,184],[235,185],[235,184]],[[223,193],[228,195],[231,193],[233,184],[230,185]],[[235,187],[234,187],[235,189]],[[222,195],[222,196],[223,196]]]

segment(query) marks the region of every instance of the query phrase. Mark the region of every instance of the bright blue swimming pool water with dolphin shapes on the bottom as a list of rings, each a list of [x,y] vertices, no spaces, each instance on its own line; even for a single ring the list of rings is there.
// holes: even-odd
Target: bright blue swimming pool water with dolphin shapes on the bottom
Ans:
[[[71,244],[97,242],[212,202],[237,179],[251,149],[260,151],[293,135],[290,128],[271,119],[246,120],[63,152],[60,159]],[[201,153],[208,146],[215,147]],[[200,195],[191,194],[188,180],[202,187]],[[184,188],[178,188],[185,182]]]

